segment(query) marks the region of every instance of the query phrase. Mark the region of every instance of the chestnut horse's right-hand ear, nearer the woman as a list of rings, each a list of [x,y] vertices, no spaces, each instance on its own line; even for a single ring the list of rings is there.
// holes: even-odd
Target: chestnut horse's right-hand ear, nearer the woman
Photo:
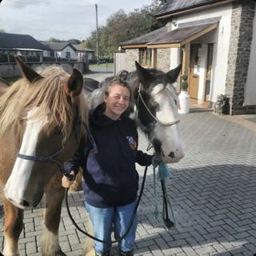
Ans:
[[[71,100],[74,101],[74,98],[78,97],[78,95],[82,91],[83,86],[83,77],[82,73],[73,68],[72,74],[65,86],[65,91],[68,96],[70,96]]]

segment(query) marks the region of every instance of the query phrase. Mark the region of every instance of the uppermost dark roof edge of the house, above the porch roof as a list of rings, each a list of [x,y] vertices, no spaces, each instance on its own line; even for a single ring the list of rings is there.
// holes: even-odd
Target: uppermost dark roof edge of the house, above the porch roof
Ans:
[[[193,11],[195,8],[207,8],[208,6],[221,5],[227,2],[234,2],[234,0],[170,0],[157,14],[154,14],[154,17],[169,18],[183,11]]]

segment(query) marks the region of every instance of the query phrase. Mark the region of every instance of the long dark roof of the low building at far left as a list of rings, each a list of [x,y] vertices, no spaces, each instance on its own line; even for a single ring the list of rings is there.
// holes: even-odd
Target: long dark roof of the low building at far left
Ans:
[[[0,49],[47,50],[47,47],[29,34],[0,33]]]

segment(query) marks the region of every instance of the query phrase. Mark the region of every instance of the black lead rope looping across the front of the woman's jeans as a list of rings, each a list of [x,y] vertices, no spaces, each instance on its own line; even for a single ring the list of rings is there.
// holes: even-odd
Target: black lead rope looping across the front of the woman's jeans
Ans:
[[[144,190],[144,186],[145,186],[145,181],[146,181],[146,173],[147,173],[147,167],[148,165],[145,166],[145,170],[144,170],[144,175],[143,175],[143,179],[142,179],[142,187],[141,187],[141,190],[140,190],[140,193],[138,195],[138,200],[137,200],[137,203],[136,203],[136,206],[134,207],[134,212],[130,218],[130,222],[129,222],[129,226],[126,230],[126,232],[118,239],[115,239],[114,241],[105,241],[105,240],[101,240],[101,239],[98,239],[98,238],[95,238],[93,235],[87,233],[86,231],[82,230],[78,224],[74,221],[74,218],[72,217],[71,213],[70,213],[70,207],[69,207],[69,202],[68,202],[68,188],[66,188],[65,190],[65,202],[66,202],[66,210],[67,210],[67,213],[68,215],[70,216],[70,219],[71,219],[71,222],[74,224],[74,226],[78,229],[78,231],[80,231],[82,234],[85,234],[87,237],[89,238],[92,238],[94,239],[95,241],[97,242],[102,242],[102,243],[110,243],[110,244],[113,244],[115,242],[120,242],[123,238],[126,237],[126,234],[129,233],[130,231],[130,228],[134,222],[134,218],[136,216],[136,213],[137,213],[137,210],[138,210],[138,205],[139,205],[139,202],[141,201],[141,198],[142,198],[142,194],[143,194],[143,190]]]

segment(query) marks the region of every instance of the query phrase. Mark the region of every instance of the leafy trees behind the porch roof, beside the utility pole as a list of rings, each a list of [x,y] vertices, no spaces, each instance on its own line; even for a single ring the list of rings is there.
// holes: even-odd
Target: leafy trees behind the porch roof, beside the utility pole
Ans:
[[[166,22],[154,18],[158,9],[168,1],[154,0],[150,6],[143,6],[135,9],[130,14],[124,10],[112,14],[106,21],[106,26],[98,28],[98,52],[99,56],[112,57],[118,50],[121,42],[137,38],[142,34],[165,26]],[[86,46],[96,50],[96,31],[92,31],[90,37],[86,39]]]

